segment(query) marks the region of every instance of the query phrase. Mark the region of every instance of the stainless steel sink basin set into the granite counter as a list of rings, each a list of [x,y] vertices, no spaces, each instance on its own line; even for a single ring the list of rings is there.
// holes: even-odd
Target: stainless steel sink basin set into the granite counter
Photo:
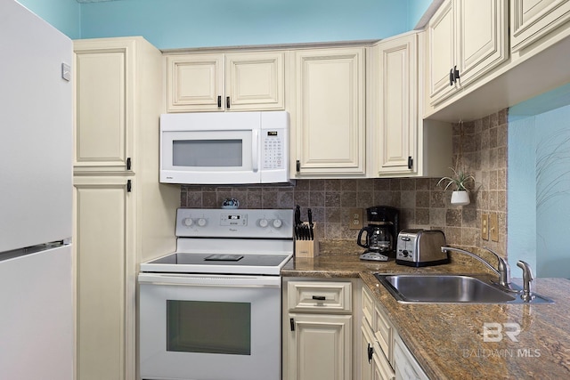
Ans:
[[[400,303],[523,303],[517,292],[503,291],[485,276],[379,273],[374,276]],[[552,301],[535,295],[531,303]]]

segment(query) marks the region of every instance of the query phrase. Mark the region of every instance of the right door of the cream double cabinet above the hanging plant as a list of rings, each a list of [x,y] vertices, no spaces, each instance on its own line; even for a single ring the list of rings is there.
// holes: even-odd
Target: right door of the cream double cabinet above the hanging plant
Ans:
[[[509,57],[507,1],[456,0],[460,83],[468,85]]]

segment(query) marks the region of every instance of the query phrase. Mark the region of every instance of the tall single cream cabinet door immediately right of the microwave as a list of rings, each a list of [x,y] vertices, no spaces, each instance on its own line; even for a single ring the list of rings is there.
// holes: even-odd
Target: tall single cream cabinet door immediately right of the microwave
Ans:
[[[364,49],[297,52],[296,75],[296,176],[365,174]]]

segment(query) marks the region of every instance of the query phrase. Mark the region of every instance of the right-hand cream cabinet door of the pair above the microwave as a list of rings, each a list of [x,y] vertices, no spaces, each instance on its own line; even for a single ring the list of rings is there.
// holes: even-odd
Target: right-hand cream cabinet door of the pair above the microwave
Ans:
[[[227,110],[284,109],[284,55],[282,52],[227,54]]]

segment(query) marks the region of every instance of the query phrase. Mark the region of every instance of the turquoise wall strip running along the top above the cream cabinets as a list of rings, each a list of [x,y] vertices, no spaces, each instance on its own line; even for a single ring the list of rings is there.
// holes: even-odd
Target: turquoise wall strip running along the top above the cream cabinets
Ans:
[[[144,36],[159,49],[381,39],[431,0],[20,0],[71,38]]]

